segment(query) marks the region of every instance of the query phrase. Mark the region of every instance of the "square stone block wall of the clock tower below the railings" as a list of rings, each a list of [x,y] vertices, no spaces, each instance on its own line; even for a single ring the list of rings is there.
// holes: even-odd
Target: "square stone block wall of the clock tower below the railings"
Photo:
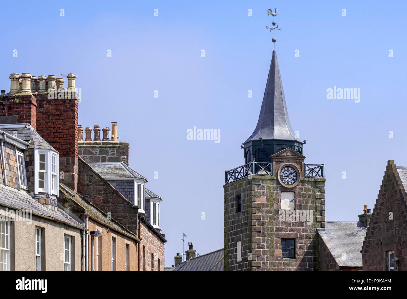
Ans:
[[[225,271],[319,270],[317,227],[325,227],[325,179],[301,178],[285,188],[275,177],[252,175],[224,187]],[[281,192],[295,192],[295,210],[312,211],[312,223],[280,221]],[[236,196],[241,195],[241,212]],[[282,258],[281,239],[295,239],[295,258]],[[242,261],[237,262],[236,242]]]

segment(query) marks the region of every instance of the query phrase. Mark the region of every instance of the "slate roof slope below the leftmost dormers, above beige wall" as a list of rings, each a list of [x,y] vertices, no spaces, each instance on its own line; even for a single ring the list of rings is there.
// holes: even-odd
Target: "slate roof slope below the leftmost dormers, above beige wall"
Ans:
[[[27,192],[2,185],[0,188],[0,205],[12,210],[29,210],[34,215],[67,225],[83,229],[83,225],[60,209],[57,212],[49,210],[47,207],[33,199]]]

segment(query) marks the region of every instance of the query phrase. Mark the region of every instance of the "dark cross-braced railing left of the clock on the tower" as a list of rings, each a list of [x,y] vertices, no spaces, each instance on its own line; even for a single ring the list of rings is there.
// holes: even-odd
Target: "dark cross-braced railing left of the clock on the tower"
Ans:
[[[268,162],[249,162],[225,171],[225,184],[249,175],[273,175],[273,164]]]

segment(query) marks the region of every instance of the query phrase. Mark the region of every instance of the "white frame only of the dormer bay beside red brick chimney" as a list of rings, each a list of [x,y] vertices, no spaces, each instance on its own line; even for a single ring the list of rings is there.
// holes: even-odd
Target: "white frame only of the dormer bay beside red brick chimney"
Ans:
[[[39,155],[45,155],[45,170],[39,170]],[[52,169],[52,159],[56,159],[55,172]],[[48,193],[59,196],[59,154],[54,151],[35,149],[34,152],[34,193]],[[39,172],[44,172],[44,188],[39,188]],[[52,179],[54,179],[54,190],[52,190]]]

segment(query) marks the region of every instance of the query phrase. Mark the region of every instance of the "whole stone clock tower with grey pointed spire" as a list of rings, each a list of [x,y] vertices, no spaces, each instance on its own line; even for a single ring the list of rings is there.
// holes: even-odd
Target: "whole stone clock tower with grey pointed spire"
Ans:
[[[225,271],[319,270],[324,164],[305,163],[304,143],[291,128],[273,51],[257,126],[243,143],[245,164],[225,171]]]

